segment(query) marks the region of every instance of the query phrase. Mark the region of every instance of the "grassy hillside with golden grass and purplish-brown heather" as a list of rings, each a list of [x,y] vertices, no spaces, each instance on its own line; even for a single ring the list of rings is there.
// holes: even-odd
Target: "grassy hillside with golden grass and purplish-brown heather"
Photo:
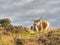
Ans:
[[[60,45],[60,29],[34,32],[22,26],[0,27],[0,45]]]

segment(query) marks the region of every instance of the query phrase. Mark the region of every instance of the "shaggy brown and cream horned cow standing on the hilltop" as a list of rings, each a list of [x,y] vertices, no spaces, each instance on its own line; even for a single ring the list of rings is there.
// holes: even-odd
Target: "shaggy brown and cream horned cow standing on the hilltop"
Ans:
[[[49,22],[48,21],[40,21],[40,20],[34,20],[34,30],[42,31],[42,30],[48,30],[49,28]]]

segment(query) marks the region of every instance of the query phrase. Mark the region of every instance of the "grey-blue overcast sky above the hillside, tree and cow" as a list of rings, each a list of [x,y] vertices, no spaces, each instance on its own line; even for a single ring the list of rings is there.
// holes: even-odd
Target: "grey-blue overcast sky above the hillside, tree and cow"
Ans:
[[[13,25],[30,27],[41,16],[51,27],[60,27],[60,0],[0,0],[0,18],[11,19]]]

